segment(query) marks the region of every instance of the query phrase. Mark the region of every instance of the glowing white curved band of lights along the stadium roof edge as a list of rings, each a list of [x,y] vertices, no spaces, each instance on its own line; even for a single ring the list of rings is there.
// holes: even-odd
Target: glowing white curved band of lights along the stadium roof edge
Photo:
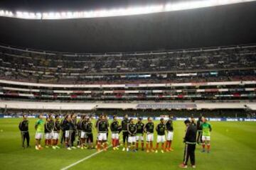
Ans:
[[[256,0],[201,0],[183,1],[168,4],[158,4],[151,6],[134,6],[129,8],[102,9],[99,11],[63,11],[50,13],[28,13],[26,11],[6,11],[0,9],[0,16],[23,19],[70,19],[70,18],[98,18],[111,16],[133,16],[147,13],[162,13],[169,11],[181,11],[193,8],[206,8],[210,6],[223,6],[228,4],[238,4]]]

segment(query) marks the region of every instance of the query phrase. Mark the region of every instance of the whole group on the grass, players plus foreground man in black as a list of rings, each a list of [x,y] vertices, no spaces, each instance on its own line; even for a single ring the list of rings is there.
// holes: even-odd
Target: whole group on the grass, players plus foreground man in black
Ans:
[[[196,168],[195,149],[196,144],[202,145],[202,152],[210,152],[210,131],[212,130],[210,123],[206,118],[200,117],[198,121],[194,118],[185,120],[186,130],[183,142],[185,143],[183,163],[181,168],[186,168],[188,159],[191,161],[191,166]],[[29,144],[28,120],[27,116],[23,115],[23,120],[19,124],[22,137],[22,147],[25,148],[25,140],[27,147]],[[77,120],[77,115],[65,115],[60,120],[59,115],[49,114],[46,122],[43,120],[43,115],[38,115],[36,121],[36,150],[41,150],[41,140],[45,136],[45,147],[60,149],[60,144],[65,145],[68,150],[72,149],[97,149],[97,151],[107,151],[109,130],[111,131],[112,149],[117,150],[122,146],[122,151],[137,152],[139,149],[149,152],[171,152],[174,149],[171,143],[174,139],[173,117],[170,115],[168,120],[160,119],[160,123],[154,125],[152,118],[147,118],[147,122],[143,123],[142,118],[128,118],[124,115],[121,123],[117,120],[117,116],[113,117],[111,123],[107,120],[107,116],[101,115],[95,125],[92,123],[92,118],[84,115]],[[93,133],[97,132],[97,139],[94,142]],[[154,131],[156,131],[156,145],[154,146]],[[122,141],[119,140],[122,132]],[[78,137],[76,142],[76,137]],[[146,140],[144,140],[146,138]],[[145,141],[145,142],[144,142]],[[145,145],[146,144],[146,145]],[[140,147],[139,147],[140,145]],[[161,147],[159,149],[159,146]],[[206,148],[207,146],[207,148]]]

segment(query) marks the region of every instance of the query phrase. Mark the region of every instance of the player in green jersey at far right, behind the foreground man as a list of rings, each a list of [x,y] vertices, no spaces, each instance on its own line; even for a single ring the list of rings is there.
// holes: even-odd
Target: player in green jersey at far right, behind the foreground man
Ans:
[[[203,123],[201,125],[203,130],[202,141],[203,141],[203,150],[202,152],[206,152],[206,145],[207,145],[207,152],[210,152],[210,132],[212,130],[210,123],[207,122],[206,118],[203,118]]]

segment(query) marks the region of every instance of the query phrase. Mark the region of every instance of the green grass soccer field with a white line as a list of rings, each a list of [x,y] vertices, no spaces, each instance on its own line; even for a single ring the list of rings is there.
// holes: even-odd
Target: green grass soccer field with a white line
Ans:
[[[29,119],[31,148],[21,149],[21,135],[18,123],[21,119],[0,119],[0,169],[63,169],[96,152],[95,149],[34,148],[36,119]],[[155,125],[158,123],[154,122]],[[210,154],[201,153],[196,147],[196,169],[256,169],[256,123],[250,122],[211,122]],[[182,121],[174,121],[174,152],[146,153],[122,152],[122,149],[100,152],[94,157],[70,167],[70,169],[180,169],[183,159],[183,135],[185,126]],[[155,135],[156,139],[156,135]],[[110,141],[110,136],[109,136]],[[190,164],[190,163],[189,163]],[[188,169],[191,169],[189,166]]]

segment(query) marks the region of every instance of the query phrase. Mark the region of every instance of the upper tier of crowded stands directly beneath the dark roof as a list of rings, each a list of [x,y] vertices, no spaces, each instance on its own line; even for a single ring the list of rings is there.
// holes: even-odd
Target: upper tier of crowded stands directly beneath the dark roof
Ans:
[[[103,54],[0,45],[0,77],[49,84],[253,81],[255,55],[256,45]]]

